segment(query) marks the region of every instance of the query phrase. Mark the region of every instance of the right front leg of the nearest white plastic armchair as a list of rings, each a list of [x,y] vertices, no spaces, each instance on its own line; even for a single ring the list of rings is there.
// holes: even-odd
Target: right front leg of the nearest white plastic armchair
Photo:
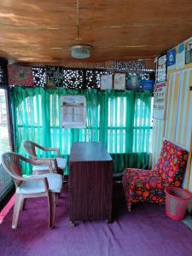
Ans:
[[[49,204],[49,228],[54,228],[55,226],[55,205],[56,205],[56,195],[53,192],[48,194],[48,204]]]

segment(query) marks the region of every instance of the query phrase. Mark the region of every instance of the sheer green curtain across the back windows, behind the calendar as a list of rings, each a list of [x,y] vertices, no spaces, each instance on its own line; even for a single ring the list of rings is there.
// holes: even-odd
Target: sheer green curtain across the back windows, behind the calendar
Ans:
[[[61,127],[60,97],[86,97],[87,125],[84,129]],[[15,149],[26,156],[22,140],[45,147],[58,147],[66,157],[73,142],[102,142],[114,160],[113,173],[125,167],[148,166],[151,134],[151,95],[131,90],[67,90],[22,88],[11,90],[15,126]],[[49,156],[38,151],[39,156]],[[51,154],[51,156],[54,156]],[[31,174],[30,166],[23,166]]]

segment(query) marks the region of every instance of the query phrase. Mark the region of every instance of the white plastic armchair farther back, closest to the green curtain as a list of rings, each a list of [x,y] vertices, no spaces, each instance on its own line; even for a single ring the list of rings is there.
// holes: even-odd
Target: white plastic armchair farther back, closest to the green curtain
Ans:
[[[44,148],[37,143],[32,143],[31,141],[23,141],[22,142],[23,147],[26,149],[26,152],[29,154],[29,156],[32,158],[32,160],[51,160],[52,167],[55,170],[55,172],[61,174],[64,178],[64,170],[67,165],[67,160],[64,158],[61,158],[60,150],[59,148]],[[36,154],[36,148],[40,148],[44,151],[56,151],[57,158],[38,158]],[[46,172],[49,172],[49,166],[47,165],[41,165],[41,166],[33,166],[32,167],[32,173],[33,174],[44,174]]]

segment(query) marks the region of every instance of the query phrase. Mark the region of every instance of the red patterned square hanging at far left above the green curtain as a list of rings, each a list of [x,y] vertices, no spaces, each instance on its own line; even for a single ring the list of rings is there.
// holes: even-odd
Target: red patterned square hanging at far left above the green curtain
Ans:
[[[33,86],[32,67],[9,66],[9,85]]]

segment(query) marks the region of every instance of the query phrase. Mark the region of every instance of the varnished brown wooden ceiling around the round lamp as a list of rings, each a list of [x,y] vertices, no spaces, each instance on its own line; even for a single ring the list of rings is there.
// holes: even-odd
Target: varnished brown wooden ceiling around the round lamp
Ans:
[[[191,14],[191,0],[1,0],[0,55],[77,62],[68,48],[90,44],[86,62],[153,59],[192,36]]]

